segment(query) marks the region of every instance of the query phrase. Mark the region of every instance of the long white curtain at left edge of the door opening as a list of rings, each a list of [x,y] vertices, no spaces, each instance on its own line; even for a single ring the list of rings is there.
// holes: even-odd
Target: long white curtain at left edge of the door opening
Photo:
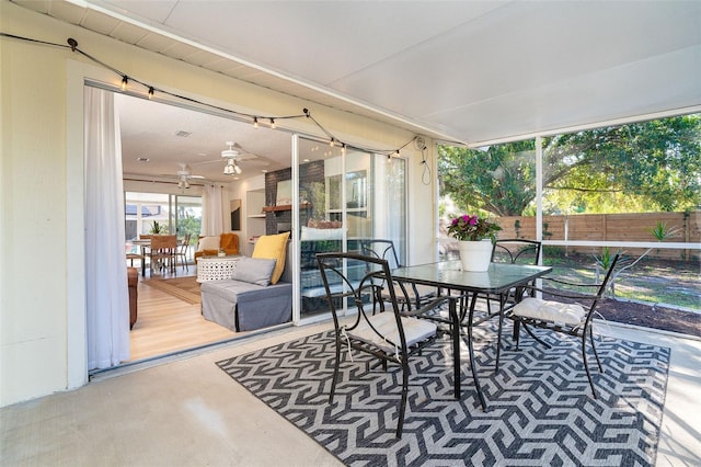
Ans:
[[[88,369],[129,360],[122,143],[114,94],[85,87]]]

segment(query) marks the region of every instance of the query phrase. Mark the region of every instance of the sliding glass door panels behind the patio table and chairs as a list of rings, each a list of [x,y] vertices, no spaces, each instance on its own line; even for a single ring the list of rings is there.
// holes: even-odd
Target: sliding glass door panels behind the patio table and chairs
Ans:
[[[353,148],[298,139],[299,310],[301,320],[329,307],[315,254],[360,252],[365,239],[395,242],[404,254],[405,161]]]

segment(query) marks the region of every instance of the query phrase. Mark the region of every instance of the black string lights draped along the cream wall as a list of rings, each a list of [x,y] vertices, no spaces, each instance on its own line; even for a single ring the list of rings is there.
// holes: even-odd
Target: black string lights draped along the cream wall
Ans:
[[[90,54],[87,54],[85,52],[81,50],[78,47],[78,41],[76,41],[72,37],[69,37],[67,39],[68,46],[65,45],[65,44],[48,43],[48,42],[45,42],[45,41],[33,39],[33,38],[30,38],[30,37],[16,36],[16,35],[7,34],[7,33],[3,33],[3,32],[0,32],[0,37],[10,37],[10,38],[18,39],[18,41],[32,42],[32,43],[36,43],[36,44],[53,46],[53,47],[70,48],[71,52],[78,53],[78,54],[82,55],[83,57],[88,58],[89,60],[91,60],[91,61],[102,66],[103,68],[108,69],[108,70],[113,71],[114,73],[122,77],[122,90],[123,91],[126,91],[126,89],[127,89],[127,87],[129,84],[129,81],[131,81],[131,82],[136,82],[138,84],[141,84],[145,88],[148,88],[148,99],[149,100],[152,100],[153,99],[153,94],[156,93],[156,88],[153,86],[150,86],[150,84],[147,84],[147,83],[145,83],[142,81],[139,81],[138,79],[135,79],[134,77],[129,78],[126,73],[119,71],[118,69],[116,69],[116,68],[114,68],[114,67],[101,61],[100,59],[91,56]],[[232,111],[230,109],[226,109],[226,107],[220,107],[220,106],[217,106],[217,105],[208,104],[206,102],[202,102],[202,101],[198,101],[198,100],[193,99],[193,98],[187,98],[187,96],[180,95],[180,94],[176,94],[176,93],[173,93],[173,92],[169,92],[169,91],[164,91],[164,90],[161,90],[161,89],[159,89],[159,92],[163,93],[163,94],[166,94],[166,95],[170,95],[172,98],[180,99],[182,101],[191,102],[191,103],[194,103],[194,104],[197,104],[197,105],[204,105],[204,106],[207,106],[207,107],[210,107],[210,109],[214,109],[214,110],[222,111],[222,112],[226,112],[226,113],[229,113],[229,114],[233,114],[233,115],[238,115],[238,116],[241,116],[241,117],[251,118],[251,119],[253,119],[253,127],[254,128],[257,128],[257,126],[258,126],[258,118],[269,118],[271,128],[274,129],[274,128],[276,128],[276,124],[275,124],[275,119],[276,118],[277,119],[280,119],[280,118],[283,118],[283,119],[291,119],[291,118],[307,117],[307,118],[310,118],[314,123],[314,125],[317,125],[317,127],[319,127],[319,129],[321,129],[326,135],[326,137],[329,137],[331,139],[331,141],[330,141],[330,146],[331,147],[341,146],[342,149],[345,150],[346,146],[352,146],[352,147],[354,147],[356,149],[359,149],[359,150],[363,150],[363,151],[366,151],[366,152],[388,153],[387,149],[376,149],[376,148],[369,148],[369,147],[361,147],[361,146],[357,146],[357,145],[347,145],[346,143],[336,139],[329,130],[326,130],[326,128],[324,128],[311,115],[311,113],[309,112],[308,109],[302,109],[302,114],[301,115],[285,115],[285,116],[279,116],[278,115],[278,116],[271,117],[271,116],[261,116],[261,115],[246,114],[246,113],[242,113],[242,112],[235,112],[235,111]],[[389,155],[391,156],[392,153],[397,153],[399,156],[400,149],[403,149],[409,144],[414,141],[416,138],[417,138],[417,136],[412,137],[409,141],[406,141],[399,149],[397,149],[397,151],[389,152]],[[457,144],[457,141],[456,141],[456,144]],[[239,170],[241,170],[241,168],[239,166],[234,166],[234,167],[238,168]],[[235,172],[235,169],[234,169],[234,172]]]

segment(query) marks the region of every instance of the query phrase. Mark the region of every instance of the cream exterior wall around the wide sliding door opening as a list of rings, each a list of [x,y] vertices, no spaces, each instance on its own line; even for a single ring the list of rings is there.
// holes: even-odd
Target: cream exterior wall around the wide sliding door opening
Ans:
[[[413,134],[237,81],[55,21],[0,0],[0,30],[79,47],[139,80],[237,111],[299,114],[340,138],[399,147]],[[82,234],[83,80],[117,86],[116,75],[70,49],[0,38],[0,407],[87,383]],[[290,129],[320,135],[306,122]],[[433,145],[429,163],[434,166]],[[433,182],[421,153],[410,159],[412,262],[433,259]],[[435,173],[435,170],[432,170]],[[238,196],[239,190],[230,192]]]

